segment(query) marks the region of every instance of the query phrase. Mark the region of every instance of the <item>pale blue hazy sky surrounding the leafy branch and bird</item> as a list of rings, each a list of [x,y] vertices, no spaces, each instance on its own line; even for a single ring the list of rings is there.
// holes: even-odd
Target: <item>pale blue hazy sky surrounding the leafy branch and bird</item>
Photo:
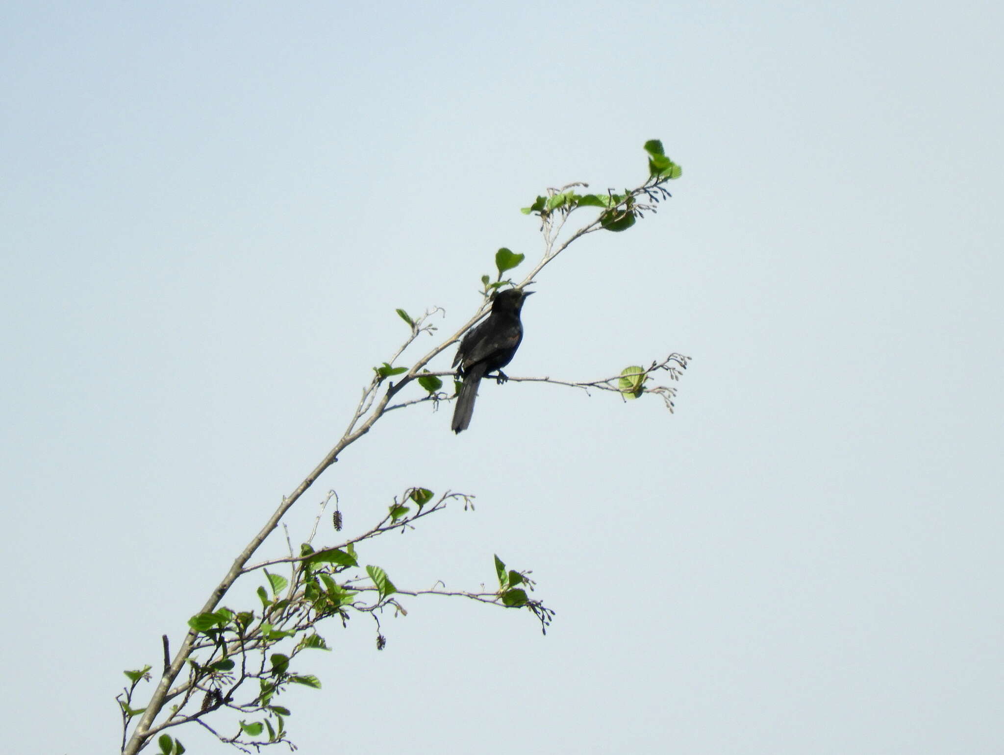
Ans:
[[[9,752],[108,752],[404,325],[465,321],[544,187],[674,199],[547,268],[508,371],[682,351],[676,415],[485,386],[323,493],[405,587],[328,627],[300,752],[996,753],[1004,743],[996,3],[12,3],[0,24]],[[447,358],[441,360],[446,366]],[[494,471],[501,468],[501,474]],[[276,543],[269,552],[281,551]],[[226,752],[199,729],[190,752]]]

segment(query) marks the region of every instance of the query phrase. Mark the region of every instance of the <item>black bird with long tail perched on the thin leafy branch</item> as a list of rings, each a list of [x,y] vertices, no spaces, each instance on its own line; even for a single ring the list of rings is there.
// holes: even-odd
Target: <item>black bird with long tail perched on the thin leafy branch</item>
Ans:
[[[471,330],[460,341],[460,348],[453,359],[457,376],[464,379],[464,385],[457,397],[457,408],[453,411],[454,433],[467,430],[474,414],[474,400],[478,398],[478,384],[493,370],[498,371],[496,381],[505,383],[502,367],[508,364],[523,340],[523,323],[519,321],[519,310],[523,300],[534,291],[507,288],[495,295],[492,313],[488,319]]]

